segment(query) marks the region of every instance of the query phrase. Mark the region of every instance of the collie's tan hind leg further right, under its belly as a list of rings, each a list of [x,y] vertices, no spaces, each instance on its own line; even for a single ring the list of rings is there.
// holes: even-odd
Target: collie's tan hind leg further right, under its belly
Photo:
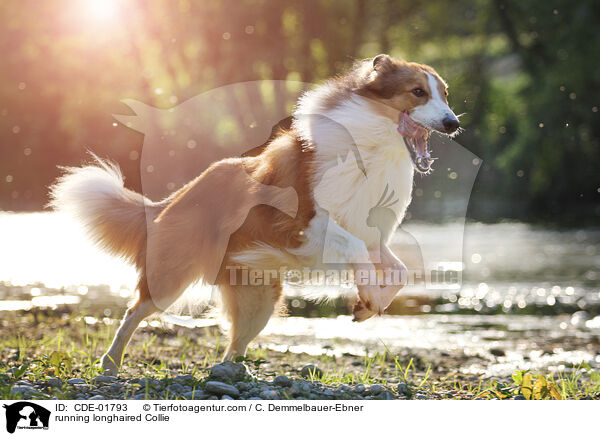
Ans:
[[[269,285],[221,285],[223,309],[231,323],[223,360],[244,356],[248,343],[267,325],[281,296],[279,282]]]

